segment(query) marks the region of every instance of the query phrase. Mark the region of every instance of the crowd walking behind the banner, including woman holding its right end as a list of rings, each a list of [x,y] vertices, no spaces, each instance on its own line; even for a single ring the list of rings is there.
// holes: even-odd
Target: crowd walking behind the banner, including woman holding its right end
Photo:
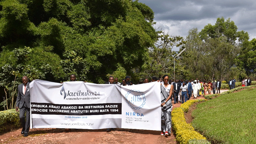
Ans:
[[[123,86],[134,85],[133,81],[130,80],[130,76],[126,76],[125,79],[122,79],[122,83],[118,82],[118,78],[109,77],[106,84],[118,84]],[[213,81],[198,80],[198,78],[185,80],[176,79],[173,81],[169,80],[168,75],[164,75],[162,78],[152,77],[151,81],[149,79],[140,78],[138,84],[148,83],[158,81],[161,83],[161,135],[169,136],[171,131],[171,110],[172,110],[172,100],[174,104],[184,103],[190,98],[198,98],[199,96],[205,96],[206,93],[215,94],[220,93],[221,81],[213,79]]]

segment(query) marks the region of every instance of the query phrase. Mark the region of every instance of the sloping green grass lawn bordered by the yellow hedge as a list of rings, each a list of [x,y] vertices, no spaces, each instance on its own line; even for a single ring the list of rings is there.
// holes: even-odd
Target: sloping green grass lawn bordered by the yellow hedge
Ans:
[[[256,144],[256,88],[197,105],[192,125],[214,143]]]

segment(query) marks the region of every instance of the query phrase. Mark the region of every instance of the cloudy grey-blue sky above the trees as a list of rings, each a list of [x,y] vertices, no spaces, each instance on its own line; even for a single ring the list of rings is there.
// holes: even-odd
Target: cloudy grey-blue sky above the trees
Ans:
[[[186,38],[188,31],[199,31],[208,23],[215,25],[222,16],[235,22],[238,31],[248,32],[250,40],[256,38],[255,0],[139,0],[155,13],[155,27],[171,35]]]

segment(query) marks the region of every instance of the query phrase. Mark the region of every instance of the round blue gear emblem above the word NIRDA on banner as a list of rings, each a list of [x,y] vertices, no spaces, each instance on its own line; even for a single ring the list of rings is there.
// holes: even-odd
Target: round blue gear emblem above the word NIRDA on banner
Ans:
[[[145,104],[145,94],[140,91],[130,90],[125,95],[126,103],[133,109],[140,109]]]

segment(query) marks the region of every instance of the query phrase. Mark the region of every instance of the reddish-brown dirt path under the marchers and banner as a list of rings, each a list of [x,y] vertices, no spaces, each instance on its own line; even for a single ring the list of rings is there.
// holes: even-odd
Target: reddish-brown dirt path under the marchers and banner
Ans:
[[[222,90],[224,92],[227,90]],[[198,98],[204,98],[200,96]],[[172,101],[173,103],[174,101]],[[173,108],[180,107],[181,103],[173,104]],[[168,138],[160,135],[161,131],[115,129],[106,132],[106,129],[30,129],[29,136],[23,137],[21,129],[0,135],[0,143],[8,144],[176,144],[173,132]]]

